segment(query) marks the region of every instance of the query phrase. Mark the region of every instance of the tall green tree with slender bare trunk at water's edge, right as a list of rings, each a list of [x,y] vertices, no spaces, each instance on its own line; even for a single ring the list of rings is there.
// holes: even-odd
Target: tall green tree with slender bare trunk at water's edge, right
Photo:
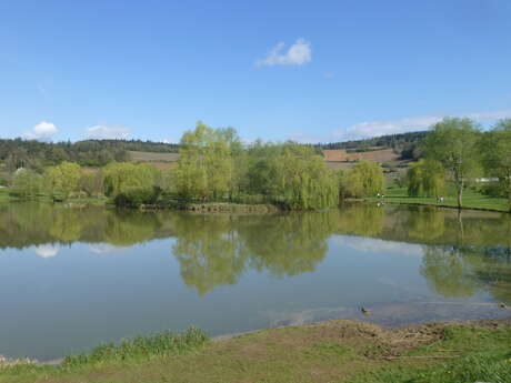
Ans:
[[[437,123],[423,141],[424,154],[442,163],[454,182],[458,206],[462,206],[462,193],[467,178],[479,168],[480,131],[470,119],[445,118]]]

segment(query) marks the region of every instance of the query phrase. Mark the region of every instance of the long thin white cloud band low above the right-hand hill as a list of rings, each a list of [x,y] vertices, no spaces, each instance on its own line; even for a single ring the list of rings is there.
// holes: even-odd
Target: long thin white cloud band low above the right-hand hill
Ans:
[[[365,139],[371,137],[380,137],[385,134],[397,134],[412,131],[420,131],[430,128],[437,122],[442,121],[445,115],[424,115],[404,118],[390,121],[368,121],[359,122],[345,130],[338,130],[333,132],[337,140],[353,140]],[[491,121],[511,118],[511,110],[501,110],[493,112],[477,112],[464,113],[458,115],[460,118],[469,118],[477,122]]]

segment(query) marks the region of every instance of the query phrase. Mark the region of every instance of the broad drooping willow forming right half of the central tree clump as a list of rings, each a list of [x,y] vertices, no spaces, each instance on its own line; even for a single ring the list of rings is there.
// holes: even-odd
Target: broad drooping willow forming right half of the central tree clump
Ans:
[[[311,147],[283,144],[271,160],[269,174],[273,181],[272,199],[291,210],[323,209],[338,203],[335,174]]]

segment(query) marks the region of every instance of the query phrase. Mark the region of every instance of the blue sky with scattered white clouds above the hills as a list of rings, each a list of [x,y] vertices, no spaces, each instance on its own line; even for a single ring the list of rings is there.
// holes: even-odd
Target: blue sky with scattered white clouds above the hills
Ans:
[[[0,138],[339,141],[511,117],[511,1],[0,0]]]

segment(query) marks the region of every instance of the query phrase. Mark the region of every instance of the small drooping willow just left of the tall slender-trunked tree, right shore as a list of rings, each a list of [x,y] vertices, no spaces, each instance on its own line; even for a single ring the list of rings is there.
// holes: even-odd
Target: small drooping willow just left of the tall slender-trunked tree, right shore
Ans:
[[[407,173],[408,195],[439,196],[445,192],[445,171],[440,162],[423,159],[413,163]]]

